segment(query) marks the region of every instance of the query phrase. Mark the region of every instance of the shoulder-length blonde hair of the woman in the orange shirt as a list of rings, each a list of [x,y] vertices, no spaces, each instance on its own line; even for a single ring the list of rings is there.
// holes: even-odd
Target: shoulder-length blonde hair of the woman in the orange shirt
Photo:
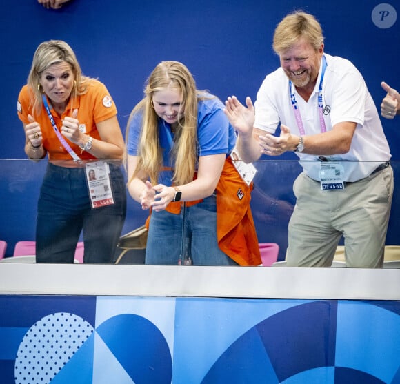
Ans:
[[[89,77],[83,76],[81,67],[77,61],[72,48],[61,40],[49,40],[39,44],[34,52],[32,67],[28,75],[28,85],[32,91],[32,110],[37,114],[41,111],[42,106],[42,89],[40,85],[41,74],[51,65],[62,62],[68,63],[72,73],[74,74],[75,85],[72,89],[70,97],[77,97],[87,92]]]

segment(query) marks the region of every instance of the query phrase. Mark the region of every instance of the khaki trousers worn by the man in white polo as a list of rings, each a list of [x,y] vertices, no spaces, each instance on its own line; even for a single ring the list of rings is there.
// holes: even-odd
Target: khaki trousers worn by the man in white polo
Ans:
[[[288,267],[330,267],[342,235],[347,267],[382,266],[393,194],[390,166],[346,183],[344,190],[321,190],[302,172],[293,191],[297,201],[289,222]]]

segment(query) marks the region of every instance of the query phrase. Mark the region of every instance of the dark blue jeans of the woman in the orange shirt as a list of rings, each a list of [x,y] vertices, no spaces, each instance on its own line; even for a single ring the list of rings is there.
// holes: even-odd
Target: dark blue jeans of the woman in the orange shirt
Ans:
[[[126,216],[126,187],[110,164],[114,204],[92,209],[85,168],[48,163],[37,209],[37,263],[72,263],[83,230],[85,263],[111,263]]]

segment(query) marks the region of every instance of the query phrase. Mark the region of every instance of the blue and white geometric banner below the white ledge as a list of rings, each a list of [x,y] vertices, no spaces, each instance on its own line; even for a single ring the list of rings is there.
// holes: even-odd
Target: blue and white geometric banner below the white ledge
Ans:
[[[400,383],[399,301],[0,296],[0,307],[2,384]]]

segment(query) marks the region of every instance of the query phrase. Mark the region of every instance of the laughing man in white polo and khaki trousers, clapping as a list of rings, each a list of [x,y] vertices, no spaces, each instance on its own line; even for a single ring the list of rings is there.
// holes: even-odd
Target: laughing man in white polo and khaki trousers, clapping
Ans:
[[[350,61],[324,53],[321,26],[305,12],[279,23],[273,47],[281,67],[264,79],[255,110],[249,97],[247,108],[228,97],[225,112],[244,161],[299,156],[288,266],[330,266],[344,236],[348,267],[381,267],[393,172],[366,83]],[[279,123],[280,136],[272,136]]]

